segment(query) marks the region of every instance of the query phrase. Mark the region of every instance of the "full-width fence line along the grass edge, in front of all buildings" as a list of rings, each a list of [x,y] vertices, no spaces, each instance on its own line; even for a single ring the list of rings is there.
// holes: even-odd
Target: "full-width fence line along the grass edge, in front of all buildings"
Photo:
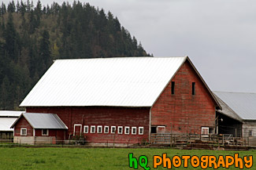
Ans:
[[[87,141],[86,139],[57,140],[55,137],[39,138],[31,137],[24,139],[0,139],[2,147],[163,147],[169,146],[182,149],[242,149],[256,147],[256,137],[233,137],[232,135],[200,135],[200,134],[172,134],[155,133],[151,134],[150,139],[97,139]]]

